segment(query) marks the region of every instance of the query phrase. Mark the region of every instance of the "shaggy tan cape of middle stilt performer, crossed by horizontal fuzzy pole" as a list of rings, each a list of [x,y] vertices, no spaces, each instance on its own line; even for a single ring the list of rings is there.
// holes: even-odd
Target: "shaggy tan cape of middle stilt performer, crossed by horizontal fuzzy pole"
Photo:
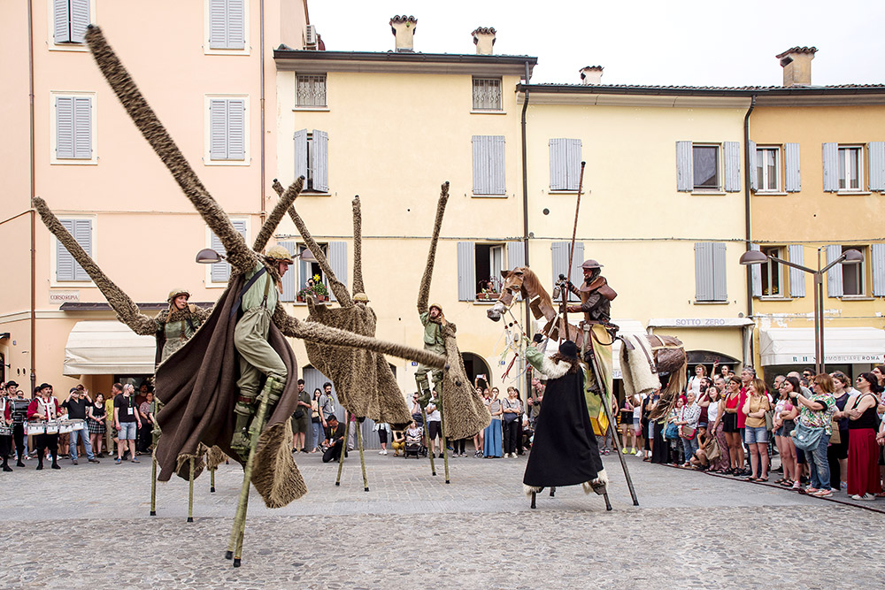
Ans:
[[[377,320],[372,308],[329,308],[308,301],[309,320],[325,326],[374,336]],[[335,383],[338,401],[358,418],[406,425],[412,419],[405,398],[384,355],[366,349],[345,349],[304,341],[307,356],[319,372]]]

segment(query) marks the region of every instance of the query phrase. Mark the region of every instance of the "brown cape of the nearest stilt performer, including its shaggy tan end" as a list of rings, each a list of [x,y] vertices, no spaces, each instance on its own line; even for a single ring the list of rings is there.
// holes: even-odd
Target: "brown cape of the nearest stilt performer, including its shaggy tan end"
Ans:
[[[243,463],[230,448],[239,395],[239,361],[234,348],[237,317],[231,318],[230,310],[241,288],[242,275],[236,275],[203,326],[158,367],[156,388],[165,404],[157,414],[163,429],[156,453],[160,481],[168,481],[177,471],[187,477],[180,466],[190,456],[201,456],[201,443],[209,448],[217,446]],[[307,487],[290,446],[289,420],[298,402],[298,365],[289,342],[273,323],[268,341],[286,365],[289,379],[258,440],[252,484],[268,508],[279,508],[306,494]]]

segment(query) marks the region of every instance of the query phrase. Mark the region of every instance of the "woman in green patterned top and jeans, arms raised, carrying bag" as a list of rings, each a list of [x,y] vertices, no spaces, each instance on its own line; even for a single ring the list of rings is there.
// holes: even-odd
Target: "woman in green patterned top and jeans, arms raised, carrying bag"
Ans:
[[[820,373],[812,380],[812,396],[791,391],[789,396],[799,404],[799,420],[794,431],[793,443],[805,451],[811,471],[811,483],[804,490],[819,498],[833,495],[829,488],[829,464],[827,446],[832,433],[835,397],[833,378]],[[800,490],[801,491],[801,490]]]

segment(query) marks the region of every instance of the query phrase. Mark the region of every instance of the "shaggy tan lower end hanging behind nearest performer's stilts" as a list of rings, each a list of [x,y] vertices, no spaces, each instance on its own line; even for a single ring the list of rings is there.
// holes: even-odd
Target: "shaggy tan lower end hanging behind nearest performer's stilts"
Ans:
[[[289,420],[265,429],[258,439],[252,485],[267,508],[282,508],[307,494],[307,486],[292,458],[292,424]]]

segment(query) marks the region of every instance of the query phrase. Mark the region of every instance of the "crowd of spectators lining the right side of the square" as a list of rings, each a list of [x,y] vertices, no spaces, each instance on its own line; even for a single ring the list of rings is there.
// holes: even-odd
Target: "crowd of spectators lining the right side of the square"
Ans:
[[[841,371],[805,369],[776,375],[768,386],[752,367],[738,376],[725,366],[708,377],[698,364],[675,407],[651,420],[659,403],[659,390],[624,402],[625,453],[751,482],[776,477],[773,484],[821,498],[839,491],[854,500],[885,496],[885,365],[853,383]]]

